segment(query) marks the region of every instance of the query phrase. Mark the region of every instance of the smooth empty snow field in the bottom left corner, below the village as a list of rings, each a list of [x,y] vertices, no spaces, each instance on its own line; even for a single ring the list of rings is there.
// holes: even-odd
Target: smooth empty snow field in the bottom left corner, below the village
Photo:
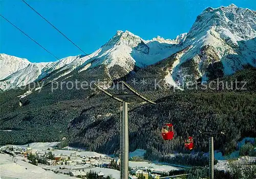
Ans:
[[[12,162],[12,156],[0,153],[0,176],[1,178],[73,178],[67,175],[55,174],[38,166],[17,160]]]

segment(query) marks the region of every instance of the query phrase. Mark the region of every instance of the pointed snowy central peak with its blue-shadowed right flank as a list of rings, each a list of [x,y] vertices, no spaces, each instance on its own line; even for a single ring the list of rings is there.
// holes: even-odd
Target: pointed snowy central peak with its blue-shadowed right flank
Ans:
[[[164,41],[163,38],[162,40]],[[117,31],[113,38],[94,53],[93,58],[99,61],[92,66],[105,64],[109,69],[118,65],[126,72],[130,72],[134,69],[134,65],[154,64],[177,51],[173,44],[159,42],[157,38],[143,40],[129,31]]]

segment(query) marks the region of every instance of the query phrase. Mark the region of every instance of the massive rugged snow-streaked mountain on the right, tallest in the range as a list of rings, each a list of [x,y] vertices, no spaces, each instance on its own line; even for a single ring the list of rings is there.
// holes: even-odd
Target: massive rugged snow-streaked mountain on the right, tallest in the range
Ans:
[[[243,65],[256,66],[256,12],[231,4],[207,8],[198,17],[181,44],[190,49],[175,61],[171,70],[176,82],[206,81],[210,71],[230,75]],[[223,73],[223,74],[222,74]]]

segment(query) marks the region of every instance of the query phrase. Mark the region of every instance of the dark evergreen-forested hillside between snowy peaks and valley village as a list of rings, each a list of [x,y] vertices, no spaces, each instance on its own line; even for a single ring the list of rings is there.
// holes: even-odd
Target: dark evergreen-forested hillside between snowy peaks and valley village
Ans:
[[[166,65],[168,60],[163,61]],[[160,64],[163,62],[159,62]],[[156,66],[159,66],[156,65]],[[104,69],[104,68],[102,68]],[[95,70],[96,71],[96,70]],[[104,70],[84,72],[105,77]],[[151,72],[161,74],[161,68],[154,65],[140,69],[135,75],[126,76],[131,83],[133,78],[152,78]],[[247,90],[202,90],[151,88],[134,86],[143,95],[156,100],[157,105],[134,103],[129,105],[130,151],[146,149],[148,159],[158,159],[160,155],[174,151],[184,151],[184,138],[188,135],[195,140],[196,151],[208,150],[208,139],[198,130],[224,131],[226,137],[215,138],[215,148],[229,153],[236,149],[237,141],[243,137],[256,137],[256,71],[247,68],[221,80],[248,81]],[[92,77],[92,78],[94,78]],[[69,80],[79,79],[75,74]],[[80,79],[81,80],[81,79]],[[106,80],[109,80],[106,78]],[[0,94],[0,143],[25,144],[29,142],[60,141],[66,137],[69,145],[86,147],[88,150],[117,153],[119,151],[120,104],[101,94],[96,89],[68,90],[56,89],[51,92],[50,84],[19,99],[26,92],[11,89]],[[109,89],[111,93],[121,93]],[[19,105],[22,103],[22,106]],[[161,125],[170,122],[172,116],[175,139],[163,141]]]

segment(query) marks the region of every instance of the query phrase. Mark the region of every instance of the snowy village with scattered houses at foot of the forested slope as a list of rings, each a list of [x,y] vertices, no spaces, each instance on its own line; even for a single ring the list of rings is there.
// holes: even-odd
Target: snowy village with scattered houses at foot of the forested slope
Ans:
[[[119,178],[120,160],[115,156],[100,154],[97,152],[84,151],[71,147],[56,148],[55,143],[32,143],[27,145],[5,145],[0,147],[1,174],[8,177],[8,165],[22,168],[26,173],[30,166],[36,166],[40,172],[51,172],[60,178]],[[138,152],[139,151],[139,152]],[[143,154],[143,150],[131,153],[131,156]],[[131,158],[132,159],[132,158]],[[8,161],[8,162],[7,162]],[[27,164],[25,164],[27,163]],[[8,165],[7,165],[8,164]],[[26,167],[23,167],[26,165]],[[156,165],[149,162],[130,161],[129,178],[160,178],[163,172],[178,170],[178,167]],[[5,167],[6,166],[6,167]],[[28,166],[28,167],[27,167]],[[33,169],[35,170],[35,169]],[[11,174],[13,175],[13,173]],[[19,173],[17,173],[17,176]],[[54,176],[54,178],[56,178]],[[29,176],[28,176],[29,177]],[[50,176],[47,176],[50,177]]]

